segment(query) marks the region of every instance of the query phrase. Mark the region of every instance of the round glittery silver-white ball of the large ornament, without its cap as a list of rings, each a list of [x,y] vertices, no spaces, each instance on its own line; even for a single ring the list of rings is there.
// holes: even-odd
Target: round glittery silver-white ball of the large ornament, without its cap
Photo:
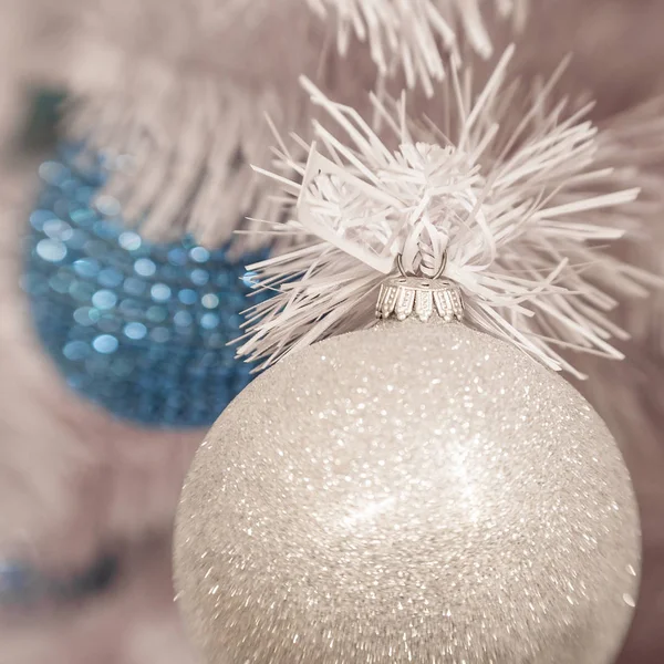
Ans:
[[[384,323],[279,363],[184,489],[178,601],[208,664],[610,664],[640,529],[561,377],[459,323]]]

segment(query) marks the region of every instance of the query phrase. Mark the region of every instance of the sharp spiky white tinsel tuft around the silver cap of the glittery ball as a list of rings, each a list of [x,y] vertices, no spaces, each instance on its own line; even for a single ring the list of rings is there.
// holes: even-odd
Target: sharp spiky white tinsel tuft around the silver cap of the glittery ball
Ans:
[[[600,132],[591,104],[553,94],[566,63],[526,87],[508,77],[512,52],[479,90],[470,66],[452,73],[421,122],[405,95],[374,96],[370,126],[304,81],[338,131],[314,123],[305,167],[281,144],[292,180],[263,172],[297,199],[297,220],[267,231],[300,239],[249,267],[276,295],[249,311],[240,355],[266,366],[371,325],[376,289],[402,255],[406,271],[427,276],[446,257],[470,321],[553,370],[583,377],[568,350],[622,357],[612,340],[627,335],[609,312],[656,280],[604,249],[656,197],[637,200],[649,187],[640,155],[662,121],[635,129],[616,118]]]

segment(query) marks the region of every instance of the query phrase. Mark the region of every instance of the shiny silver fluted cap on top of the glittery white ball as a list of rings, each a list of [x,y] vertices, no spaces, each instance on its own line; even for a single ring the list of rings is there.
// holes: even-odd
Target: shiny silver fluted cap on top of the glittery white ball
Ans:
[[[404,321],[414,317],[426,322],[434,314],[448,323],[464,319],[461,291],[452,281],[398,276],[381,284],[376,318]]]

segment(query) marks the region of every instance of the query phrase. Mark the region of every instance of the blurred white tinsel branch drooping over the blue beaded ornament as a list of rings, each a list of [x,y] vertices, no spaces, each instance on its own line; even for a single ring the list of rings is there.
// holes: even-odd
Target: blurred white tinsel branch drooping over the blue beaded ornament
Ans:
[[[247,214],[271,217],[249,167],[268,155],[264,115],[279,127],[304,126],[298,72],[335,90],[328,68],[336,63],[312,19],[301,2],[273,0],[89,8],[72,58],[68,129],[106,155],[102,195],[122,201],[128,224],[148,238],[190,232],[216,246]]]

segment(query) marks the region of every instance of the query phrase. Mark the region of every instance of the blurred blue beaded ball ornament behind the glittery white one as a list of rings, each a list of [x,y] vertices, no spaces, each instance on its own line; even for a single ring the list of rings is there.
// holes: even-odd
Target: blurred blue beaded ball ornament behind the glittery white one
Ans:
[[[115,416],[208,426],[251,378],[227,343],[252,288],[243,266],[262,255],[146,241],[114,198],[96,198],[103,159],[79,157],[60,146],[39,169],[22,277],[39,338],[68,384]]]

